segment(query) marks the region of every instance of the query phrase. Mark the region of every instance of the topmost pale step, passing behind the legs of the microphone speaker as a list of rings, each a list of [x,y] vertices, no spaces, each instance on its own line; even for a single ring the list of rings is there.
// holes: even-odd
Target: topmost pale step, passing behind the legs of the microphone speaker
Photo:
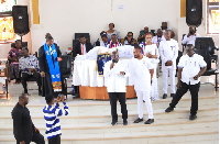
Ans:
[[[153,109],[156,111],[157,109],[166,109],[169,106],[170,100],[160,100],[160,101],[153,101]],[[199,108],[204,106],[215,106],[219,104],[219,97],[200,97],[199,98]],[[63,104],[61,104],[63,108]],[[176,108],[190,108],[191,100],[190,99],[183,99],[179,101],[179,103],[176,106]],[[0,106],[1,109],[1,115],[10,115],[12,109],[14,106]],[[28,106],[31,113],[42,113],[43,108],[45,106],[37,104],[37,106]],[[94,114],[105,114],[105,113],[111,113],[111,107],[109,103],[99,103],[99,104],[68,104],[69,107],[69,115],[94,115]],[[118,113],[121,112],[121,107],[118,102]],[[127,109],[130,113],[130,111],[136,111],[138,110],[138,103],[136,102],[127,102]],[[143,110],[146,111],[146,107],[144,104]],[[6,113],[6,114],[4,114]]]

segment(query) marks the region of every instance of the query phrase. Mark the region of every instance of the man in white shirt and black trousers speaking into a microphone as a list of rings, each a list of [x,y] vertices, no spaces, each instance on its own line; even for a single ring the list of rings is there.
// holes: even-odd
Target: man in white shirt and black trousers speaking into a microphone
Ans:
[[[111,55],[112,60],[105,64],[103,75],[108,79],[107,92],[109,93],[111,104],[112,125],[118,123],[117,98],[121,104],[123,125],[128,124],[128,110],[125,103],[128,68],[122,60],[119,60],[119,54],[114,51]]]

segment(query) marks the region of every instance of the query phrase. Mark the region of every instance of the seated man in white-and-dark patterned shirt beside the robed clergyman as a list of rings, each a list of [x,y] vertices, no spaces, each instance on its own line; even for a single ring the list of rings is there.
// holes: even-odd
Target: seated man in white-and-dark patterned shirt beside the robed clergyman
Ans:
[[[21,57],[19,59],[19,69],[22,70],[22,85],[24,88],[24,93],[28,93],[26,81],[29,78],[34,77],[38,86],[38,95],[41,96],[42,79],[38,69],[38,60],[34,55],[29,55],[29,51],[23,48],[21,51]]]

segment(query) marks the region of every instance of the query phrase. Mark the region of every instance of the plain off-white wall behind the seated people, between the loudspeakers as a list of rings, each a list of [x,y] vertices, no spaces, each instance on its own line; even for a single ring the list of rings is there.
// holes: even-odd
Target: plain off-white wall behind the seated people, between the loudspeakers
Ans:
[[[117,11],[117,4],[125,4],[125,11]],[[177,33],[177,0],[40,0],[41,24],[32,25],[33,52],[41,46],[47,32],[64,52],[72,47],[75,33],[88,32],[95,42],[111,22],[122,37],[131,31],[136,38],[145,24],[155,30],[164,20]]]

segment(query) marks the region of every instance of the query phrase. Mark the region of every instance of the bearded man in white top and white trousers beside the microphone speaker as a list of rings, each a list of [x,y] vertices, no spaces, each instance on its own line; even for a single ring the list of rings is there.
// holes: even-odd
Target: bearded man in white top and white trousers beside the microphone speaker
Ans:
[[[134,123],[143,121],[143,100],[145,101],[146,109],[148,111],[148,120],[145,124],[151,124],[154,122],[153,108],[150,99],[151,84],[154,75],[154,67],[148,57],[142,55],[142,48],[135,46],[134,58],[132,59],[133,75],[134,75],[134,89],[138,96],[138,111],[139,118]]]

